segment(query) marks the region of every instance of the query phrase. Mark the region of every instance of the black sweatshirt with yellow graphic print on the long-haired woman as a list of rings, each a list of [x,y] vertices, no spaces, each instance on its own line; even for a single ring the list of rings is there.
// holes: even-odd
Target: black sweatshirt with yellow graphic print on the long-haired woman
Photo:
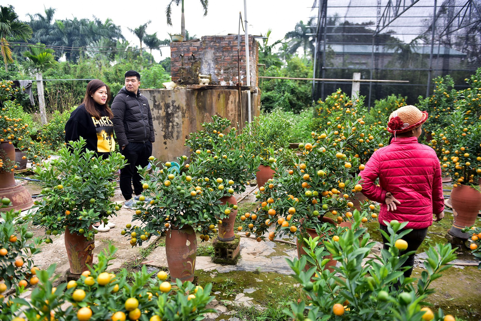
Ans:
[[[78,106],[65,124],[65,142],[68,144],[82,137],[87,141],[84,152],[88,149],[105,158],[115,151],[114,123],[103,108],[99,110],[101,118],[96,119],[90,116],[84,104]]]

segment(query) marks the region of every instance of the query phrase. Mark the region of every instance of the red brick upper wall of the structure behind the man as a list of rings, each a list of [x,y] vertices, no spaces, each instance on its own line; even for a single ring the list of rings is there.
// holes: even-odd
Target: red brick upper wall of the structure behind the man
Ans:
[[[237,37],[204,36],[184,42],[170,44],[170,69],[172,81],[182,85],[198,85],[198,75],[210,75],[209,85],[235,86],[238,80]],[[240,78],[241,85],[247,85],[245,36],[241,35]],[[249,35],[249,61],[251,86],[258,87],[257,63],[258,43]]]

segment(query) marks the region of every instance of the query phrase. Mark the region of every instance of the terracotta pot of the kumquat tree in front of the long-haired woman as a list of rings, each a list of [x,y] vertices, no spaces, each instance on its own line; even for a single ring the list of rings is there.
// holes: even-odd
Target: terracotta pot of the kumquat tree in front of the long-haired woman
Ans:
[[[81,274],[83,271],[89,270],[87,265],[92,266],[95,236],[88,241],[87,237],[77,233],[71,233],[68,228],[66,228],[64,238],[68,263],[70,264],[70,273]]]

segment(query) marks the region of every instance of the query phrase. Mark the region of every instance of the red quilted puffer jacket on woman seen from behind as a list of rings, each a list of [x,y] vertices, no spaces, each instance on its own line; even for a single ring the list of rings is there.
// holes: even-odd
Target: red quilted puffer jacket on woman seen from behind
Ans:
[[[416,137],[392,139],[372,154],[359,175],[362,193],[381,204],[380,224],[397,219],[409,222],[407,229],[424,229],[432,224],[433,214],[444,210],[439,159]],[[380,186],[374,183],[378,177]],[[401,202],[395,211],[387,210],[387,192]]]

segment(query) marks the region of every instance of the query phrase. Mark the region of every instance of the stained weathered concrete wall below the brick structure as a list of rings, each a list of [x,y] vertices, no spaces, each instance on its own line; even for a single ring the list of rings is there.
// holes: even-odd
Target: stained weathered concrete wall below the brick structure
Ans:
[[[184,146],[189,133],[201,130],[201,124],[219,115],[238,128],[238,90],[142,90],[152,109],[155,142],[152,154],[162,161],[188,155]],[[247,120],[247,91],[242,92],[242,123]],[[260,94],[251,94],[251,115],[259,116]]]

